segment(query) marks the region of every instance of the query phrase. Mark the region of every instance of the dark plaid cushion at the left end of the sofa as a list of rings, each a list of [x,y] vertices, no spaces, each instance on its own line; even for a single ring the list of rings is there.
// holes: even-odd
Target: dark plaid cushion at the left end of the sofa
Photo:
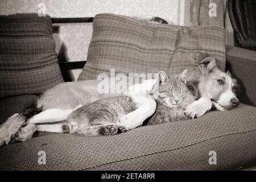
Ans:
[[[39,94],[63,82],[49,16],[0,16],[0,97]]]

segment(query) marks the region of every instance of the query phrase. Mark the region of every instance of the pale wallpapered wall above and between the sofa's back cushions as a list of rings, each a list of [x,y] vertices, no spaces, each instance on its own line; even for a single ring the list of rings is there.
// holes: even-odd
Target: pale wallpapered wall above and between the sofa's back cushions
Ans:
[[[183,25],[180,13],[184,13],[186,0],[0,0],[0,14],[38,13],[39,3],[46,5],[46,14],[51,17],[86,17],[98,13],[115,13],[128,16],[152,15],[167,20],[170,24]],[[92,35],[92,24],[60,25],[53,34],[56,52],[66,61],[86,60]],[[80,71],[73,71],[73,79]]]

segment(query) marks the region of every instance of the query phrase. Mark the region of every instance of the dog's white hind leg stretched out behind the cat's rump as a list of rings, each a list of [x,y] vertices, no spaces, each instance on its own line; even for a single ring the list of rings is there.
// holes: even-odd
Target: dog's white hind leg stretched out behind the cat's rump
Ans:
[[[28,119],[27,123],[40,124],[64,121],[68,119],[68,115],[71,114],[72,111],[79,107],[76,107],[75,109],[47,109]]]

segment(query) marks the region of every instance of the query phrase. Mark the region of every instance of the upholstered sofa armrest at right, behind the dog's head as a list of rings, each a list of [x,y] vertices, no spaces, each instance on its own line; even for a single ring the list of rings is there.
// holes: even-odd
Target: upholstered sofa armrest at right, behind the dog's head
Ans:
[[[226,64],[241,85],[240,101],[256,106],[256,52],[226,46]]]

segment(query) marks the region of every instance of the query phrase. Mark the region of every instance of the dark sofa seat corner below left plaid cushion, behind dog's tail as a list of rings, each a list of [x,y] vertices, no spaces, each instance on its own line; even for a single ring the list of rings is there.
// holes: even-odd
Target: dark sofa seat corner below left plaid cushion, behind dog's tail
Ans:
[[[36,95],[23,95],[2,98],[0,100],[0,125],[14,113],[20,113],[26,106],[38,99]]]

